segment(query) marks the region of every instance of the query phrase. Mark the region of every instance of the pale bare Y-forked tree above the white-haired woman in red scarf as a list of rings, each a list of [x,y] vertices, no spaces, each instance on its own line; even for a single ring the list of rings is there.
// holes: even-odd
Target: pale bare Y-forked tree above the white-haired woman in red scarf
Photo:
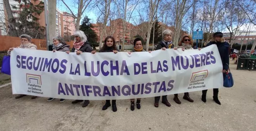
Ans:
[[[78,3],[78,13],[77,15],[75,15],[73,13],[73,11],[69,8],[69,6],[67,6],[67,4],[64,2],[64,0],[61,0],[64,5],[66,5],[66,7],[69,9],[69,11],[72,13],[73,17],[76,18],[76,31],[79,29],[79,25],[80,25],[80,20],[82,17],[83,12],[85,12],[86,8],[92,4],[92,0],[75,0],[74,3]]]

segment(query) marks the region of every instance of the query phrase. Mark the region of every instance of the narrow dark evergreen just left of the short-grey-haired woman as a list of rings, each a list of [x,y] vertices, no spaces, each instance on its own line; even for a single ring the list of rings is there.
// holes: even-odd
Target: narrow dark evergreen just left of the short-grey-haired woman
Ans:
[[[154,37],[153,37],[153,34],[154,34]],[[156,22],[155,28],[150,32],[149,43],[152,43],[154,45],[155,42],[159,42],[161,40],[162,40],[161,25],[159,25],[158,22]]]

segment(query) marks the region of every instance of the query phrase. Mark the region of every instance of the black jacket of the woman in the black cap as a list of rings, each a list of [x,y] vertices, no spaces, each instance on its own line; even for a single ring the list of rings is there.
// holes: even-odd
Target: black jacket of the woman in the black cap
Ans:
[[[209,42],[207,46],[216,44],[220,52],[223,69],[228,70],[229,67],[229,44],[228,42]]]

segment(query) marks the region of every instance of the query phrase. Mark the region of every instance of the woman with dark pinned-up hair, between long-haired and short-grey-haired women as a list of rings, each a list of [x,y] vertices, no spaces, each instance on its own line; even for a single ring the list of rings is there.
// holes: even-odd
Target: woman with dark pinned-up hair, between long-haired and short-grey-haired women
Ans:
[[[141,42],[141,39],[140,38],[136,38],[134,41],[133,41],[133,49],[131,50],[131,52],[146,52],[146,50],[143,49],[143,46],[142,46],[142,42]],[[131,54],[131,52],[128,52],[128,54]],[[149,51],[150,53],[151,51]],[[137,109],[140,109],[140,99],[141,98],[137,98],[137,101],[136,101],[136,107]],[[135,109],[135,104],[134,104],[134,101],[135,99],[131,99],[131,111],[134,111]]]

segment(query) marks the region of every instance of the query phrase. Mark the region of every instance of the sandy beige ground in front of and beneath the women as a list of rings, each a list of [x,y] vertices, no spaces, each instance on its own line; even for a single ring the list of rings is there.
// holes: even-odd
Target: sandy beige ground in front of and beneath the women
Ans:
[[[256,130],[256,71],[238,71],[231,64],[235,85],[220,89],[221,105],[208,91],[207,102],[201,101],[201,92],[191,92],[193,103],[182,99],[178,105],[173,95],[168,96],[171,107],[153,105],[153,98],[142,99],[140,110],[130,111],[128,100],[117,101],[117,112],[111,108],[102,111],[104,101],[91,101],[88,107],[47,102],[39,97],[14,99],[11,87],[0,88],[1,131],[255,131]]]

